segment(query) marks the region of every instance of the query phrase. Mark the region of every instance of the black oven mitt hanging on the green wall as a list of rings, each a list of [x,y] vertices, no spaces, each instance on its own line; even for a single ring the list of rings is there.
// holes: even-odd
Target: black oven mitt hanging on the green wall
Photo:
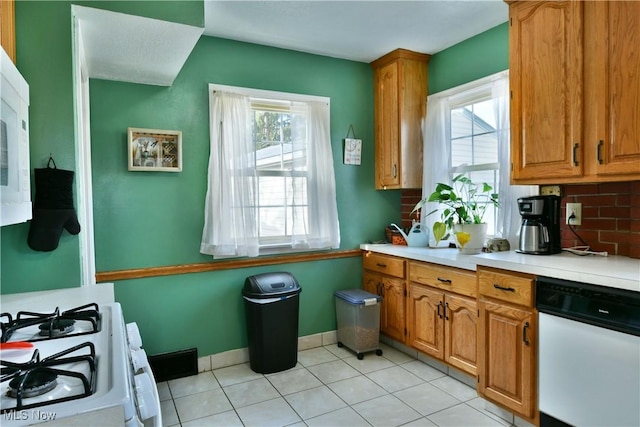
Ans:
[[[51,167],[53,163],[53,167]],[[49,252],[58,247],[62,229],[80,233],[73,207],[73,171],[58,169],[53,158],[47,167],[34,169],[35,202],[27,243],[34,251]]]

